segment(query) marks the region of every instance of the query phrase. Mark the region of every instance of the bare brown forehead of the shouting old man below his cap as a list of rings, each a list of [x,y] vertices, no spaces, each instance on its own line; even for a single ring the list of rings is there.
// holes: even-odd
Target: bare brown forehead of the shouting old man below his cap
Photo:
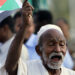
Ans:
[[[43,33],[42,35],[44,37],[44,39],[50,39],[50,40],[53,40],[53,39],[59,39],[59,40],[65,40],[64,38],[64,35],[55,30],[55,29],[50,29],[50,30],[47,30],[46,32]]]

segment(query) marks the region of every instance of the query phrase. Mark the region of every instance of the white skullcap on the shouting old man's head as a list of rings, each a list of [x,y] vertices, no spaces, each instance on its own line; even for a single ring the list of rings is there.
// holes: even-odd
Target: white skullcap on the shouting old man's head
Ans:
[[[60,33],[63,34],[61,28],[58,27],[58,26],[56,26],[56,25],[52,25],[52,24],[44,25],[44,26],[42,26],[42,27],[40,28],[40,30],[39,30],[38,33],[37,33],[37,41],[38,41],[38,43],[39,43],[40,36],[41,36],[44,32],[46,32],[47,30],[49,30],[49,29],[56,29],[56,30],[58,30]]]

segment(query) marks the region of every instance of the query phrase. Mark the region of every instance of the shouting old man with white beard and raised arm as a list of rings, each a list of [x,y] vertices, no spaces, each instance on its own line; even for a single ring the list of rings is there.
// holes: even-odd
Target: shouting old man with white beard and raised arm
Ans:
[[[29,15],[33,10],[28,2],[25,5],[24,12],[29,14],[23,12],[23,20],[26,21],[10,46],[5,64],[6,72],[9,75],[75,75],[74,71],[61,66],[66,54],[66,40],[62,30],[56,25],[42,26],[38,32],[36,52],[41,60],[28,61],[26,64],[19,60],[24,34],[30,25]]]

